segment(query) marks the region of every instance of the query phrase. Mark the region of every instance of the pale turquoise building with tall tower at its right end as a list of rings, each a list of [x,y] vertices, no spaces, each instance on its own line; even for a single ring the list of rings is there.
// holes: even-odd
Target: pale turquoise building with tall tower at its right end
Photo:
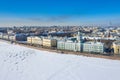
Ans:
[[[58,41],[57,49],[82,52],[82,35],[81,35],[81,33],[78,32],[76,41],[74,41],[74,39],[72,39],[72,38],[71,38],[71,40],[65,39],[63,41]]]

